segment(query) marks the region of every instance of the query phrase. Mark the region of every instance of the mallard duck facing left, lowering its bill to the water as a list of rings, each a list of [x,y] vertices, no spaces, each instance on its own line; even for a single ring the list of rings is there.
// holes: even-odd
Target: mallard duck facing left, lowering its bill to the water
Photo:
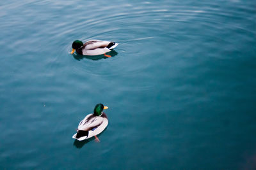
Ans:
[[[102,41],[97,39],[92,39],[83,43],[83,41],[76,40],[72,43],[72,52],[75,51],[81,55],[102,55],[106,57],[111,57],[111,55],[106,55],[118,45],[118,43],[112,41]]]

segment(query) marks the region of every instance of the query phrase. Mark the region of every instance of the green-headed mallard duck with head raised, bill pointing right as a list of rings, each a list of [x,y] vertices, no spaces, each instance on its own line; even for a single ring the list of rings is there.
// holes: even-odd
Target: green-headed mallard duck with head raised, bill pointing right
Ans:
[[[72,136],[73,139],[83,141],[84,139],[95,137],[95,140],[99,142],[97,134],[100,134],[108,126],[108,117],[103,110],[108,109],[108,106],[104,106],[102,103],[96,104],[93,113],[86,115],[77,127],[76,134]]]

